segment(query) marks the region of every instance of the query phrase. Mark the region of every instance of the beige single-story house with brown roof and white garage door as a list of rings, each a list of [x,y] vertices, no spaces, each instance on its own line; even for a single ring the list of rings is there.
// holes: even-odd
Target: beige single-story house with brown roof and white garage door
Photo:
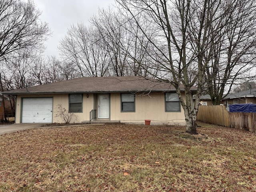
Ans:
[[[89,122],[94,110],[94,121],[185,124],[175,88],[140,76],[77,78],[4,94],[16,95],[16,123],[64,123],[58,116],[62,106],[76,116],[71,123]]]

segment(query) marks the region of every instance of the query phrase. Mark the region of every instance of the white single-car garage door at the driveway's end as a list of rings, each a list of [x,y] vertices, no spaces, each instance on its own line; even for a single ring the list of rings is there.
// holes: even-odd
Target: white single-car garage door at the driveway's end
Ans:
[[[23,98],[22,123],[52,123],[52,98]]]

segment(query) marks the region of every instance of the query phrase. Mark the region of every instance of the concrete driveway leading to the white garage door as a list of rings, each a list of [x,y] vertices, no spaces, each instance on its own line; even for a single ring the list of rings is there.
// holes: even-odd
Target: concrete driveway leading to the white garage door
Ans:
[[[0,125],[0,135],[16,132],[20,130],[32,129],[42,126],[42,123],[19,123],[19,124],[8,124]]]

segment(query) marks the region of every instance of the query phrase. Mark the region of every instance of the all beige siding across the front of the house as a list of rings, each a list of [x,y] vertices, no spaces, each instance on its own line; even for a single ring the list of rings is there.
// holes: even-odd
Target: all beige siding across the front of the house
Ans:
[[[97,105],[96,94],[83,94],[83,112],[74,113],[75,117],[71,123],[80,123],[90,120],[90,111]],[[68,94],[34,94],[34,95],[18,95],[16,103],[16,123],[20,123],[22,111],[21,98],[53,98],[53,122],[62,123],[57,115],[57,105],[62,104],[62,108],[68,109]],[[185,99],[185,98],[184,98]],[[98,114],[97,114],[98,115]],[[184,111],[181,112],[165,112],[164,93],[150,93],[150,95],[135,97],[135,112],[121,112],[120,93],[110,94],[110,120],[118,120],[127,123],[143,123],[144,120],[151,120],[151,124],[185,124]]]

